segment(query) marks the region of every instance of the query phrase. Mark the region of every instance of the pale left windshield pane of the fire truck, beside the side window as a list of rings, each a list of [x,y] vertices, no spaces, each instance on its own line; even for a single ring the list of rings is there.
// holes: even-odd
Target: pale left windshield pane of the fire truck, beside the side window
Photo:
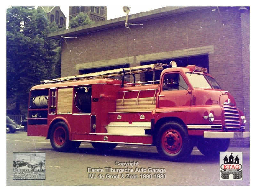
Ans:
[[[203,74],[186,73],[186,76],[194,88],[212,89],[211,85],[208,83]]]

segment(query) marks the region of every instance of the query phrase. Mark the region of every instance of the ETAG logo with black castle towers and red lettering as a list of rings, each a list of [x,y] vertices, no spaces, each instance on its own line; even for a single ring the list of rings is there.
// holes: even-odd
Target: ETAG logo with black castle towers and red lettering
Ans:
[[[243,152],[220,152],[220,180],[243,180]]]

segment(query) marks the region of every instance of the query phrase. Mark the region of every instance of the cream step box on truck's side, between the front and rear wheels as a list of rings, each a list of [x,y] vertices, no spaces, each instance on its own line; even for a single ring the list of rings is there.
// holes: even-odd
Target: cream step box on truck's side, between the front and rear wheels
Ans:
[[[105,128],[108,134],[145,135],[145,130],[151,129],[151,122],[111,122]]]

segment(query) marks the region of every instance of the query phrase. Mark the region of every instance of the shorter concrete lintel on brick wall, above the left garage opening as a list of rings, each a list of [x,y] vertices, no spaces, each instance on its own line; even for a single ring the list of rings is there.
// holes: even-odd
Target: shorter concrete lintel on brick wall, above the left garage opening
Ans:
[[[123,57],[123,58],[117,58],[117,59],[100,60],[100,61],[76,64],[76,70],[116,66],[116,65],[123,65],[123,64],[132,64],[133,62],[134,62],[134,57]]]

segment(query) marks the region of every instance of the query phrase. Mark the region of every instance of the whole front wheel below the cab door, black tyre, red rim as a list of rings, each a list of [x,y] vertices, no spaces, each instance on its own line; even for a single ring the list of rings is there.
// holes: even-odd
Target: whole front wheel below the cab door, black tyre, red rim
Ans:
[[[178,122],[163,124],[156,135],[156,148],[168,160],[184,160],[192,150],[192,140],[186,128]]]

